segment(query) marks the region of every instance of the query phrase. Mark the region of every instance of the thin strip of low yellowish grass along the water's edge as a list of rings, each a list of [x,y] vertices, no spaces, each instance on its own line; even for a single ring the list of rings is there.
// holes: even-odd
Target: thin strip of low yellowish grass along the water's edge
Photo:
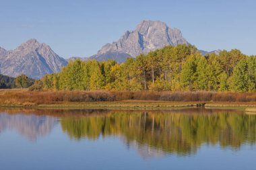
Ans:
[[[106,109],[106,110],[171,110],[174,108],[256,108],[256,102],[196,102],[196,101],[92,101],[59,102],[51,104],[13,104],[0,103],[0,108],[36,108],[36,109]]]

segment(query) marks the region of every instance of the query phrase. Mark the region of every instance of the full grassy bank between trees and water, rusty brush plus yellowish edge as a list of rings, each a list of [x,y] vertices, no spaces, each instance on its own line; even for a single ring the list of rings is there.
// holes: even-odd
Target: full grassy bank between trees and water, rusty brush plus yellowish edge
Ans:
[[[1,89],[0,106],[30,108],[253,107],[255,93],[157,91],[28,91]]]

